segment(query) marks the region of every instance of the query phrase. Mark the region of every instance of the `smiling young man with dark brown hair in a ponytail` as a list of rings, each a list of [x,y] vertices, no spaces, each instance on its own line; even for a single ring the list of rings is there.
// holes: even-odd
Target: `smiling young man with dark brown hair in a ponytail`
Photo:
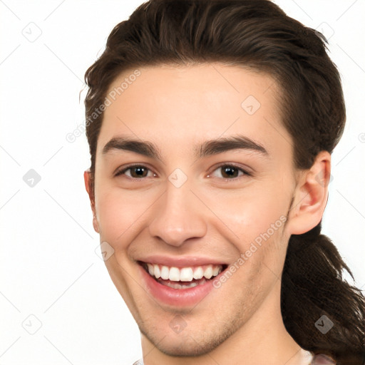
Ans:
[[[360,364],[364,297],[320,235],[345,118],[319,35],[266,0],[148,1],[86,82],[93,226],[144,364]]]

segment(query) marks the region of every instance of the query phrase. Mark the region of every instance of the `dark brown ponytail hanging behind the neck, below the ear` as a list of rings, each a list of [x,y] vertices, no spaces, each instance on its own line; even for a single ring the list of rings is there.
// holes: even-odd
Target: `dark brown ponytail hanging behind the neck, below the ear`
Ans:
[[[321,222],[290,237],[282,273],[284,325],[303,349],[327,354],[337,365],[363,365],[365,299],[342,278],[345,269],[354,279],[329,237],[320,232]],[[321,317],[324,331],[317,322]]]

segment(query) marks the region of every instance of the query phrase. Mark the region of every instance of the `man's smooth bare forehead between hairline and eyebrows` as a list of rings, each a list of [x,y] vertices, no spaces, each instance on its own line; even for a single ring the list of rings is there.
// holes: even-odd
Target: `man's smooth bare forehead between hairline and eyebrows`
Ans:
[[[279,89],[264,73],[203,63],[130,69],[113,81],[98,150],[119,135],[188,150],[204,140],[245,134],[267,149],[287,144]],[[283,146],[284,147],[284,146]]]

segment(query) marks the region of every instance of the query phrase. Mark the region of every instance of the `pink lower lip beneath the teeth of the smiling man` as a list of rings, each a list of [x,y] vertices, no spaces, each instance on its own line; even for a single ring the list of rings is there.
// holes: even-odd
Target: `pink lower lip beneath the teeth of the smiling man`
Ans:
[[[207,294],[209,294],[212,289],[214,289],[212,280],[192,288],[174,289],[160,284],[155,279],[153,279],[153,277],[151,277],[141,265],[138,266],[148,292],[152,294],[155,299],[158,299],[159,302],[164,304],[170,304],[175,307],[192,306],[201,302],[202,299],[204,299]],[[222,272],[220,274],[222,274]],[[217,277],[219,277],[219,275]]]

